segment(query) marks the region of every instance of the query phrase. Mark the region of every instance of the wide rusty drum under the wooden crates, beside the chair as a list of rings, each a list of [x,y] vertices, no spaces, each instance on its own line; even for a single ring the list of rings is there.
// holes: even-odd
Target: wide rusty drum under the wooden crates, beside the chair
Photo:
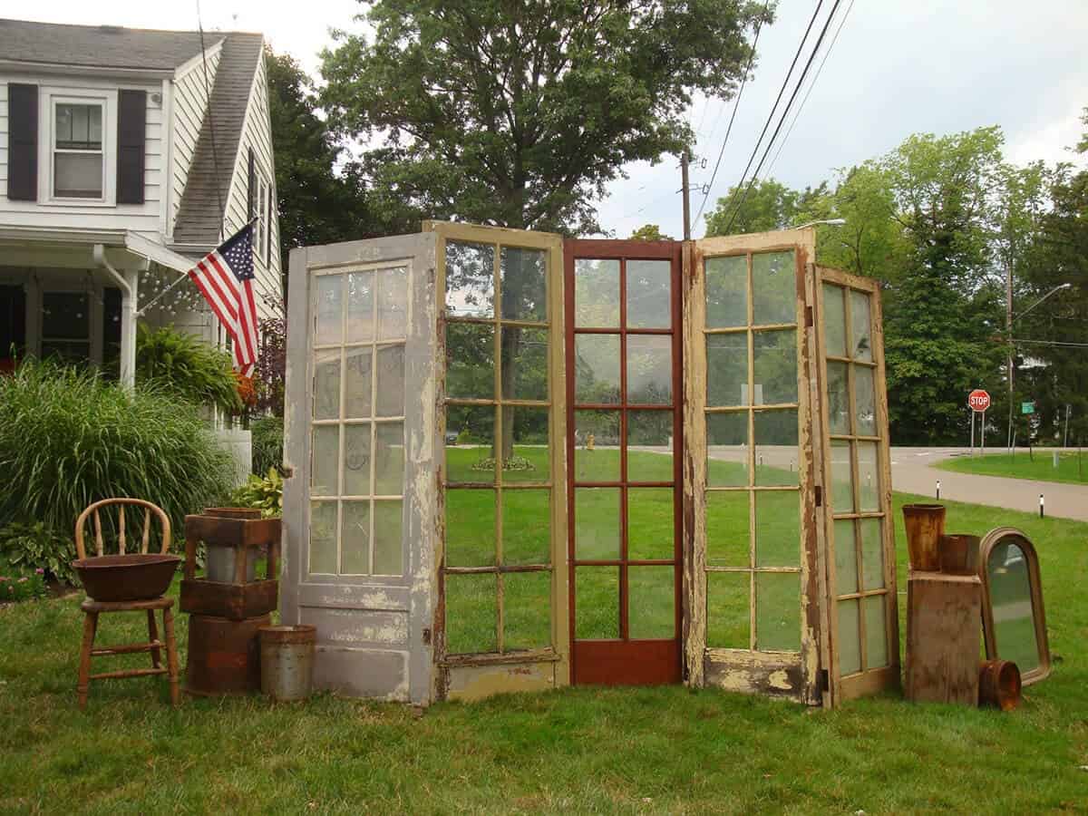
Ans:
[[[261,688],[258,631],[271,615],[230,620],[189,616],[185,690],[190,694],[248,694]]]

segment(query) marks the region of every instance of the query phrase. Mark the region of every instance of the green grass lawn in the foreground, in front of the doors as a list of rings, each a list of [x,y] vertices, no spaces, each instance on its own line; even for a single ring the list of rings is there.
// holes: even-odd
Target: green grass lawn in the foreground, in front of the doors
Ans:
[[[911,500],[897,495],[901,582]],[[1084,812],[1088,524],[948,504],[950,531],[1015,526],[1039,551],[1054,673],[1011,714],[894,694],[821,712],[681,687],[446,703],[422,718],[330,694],[174,710],[147,679],[92,684],[81,713],[74,595],[0,608],[0,813]],[[141,626],[107,618],[102,641]]]

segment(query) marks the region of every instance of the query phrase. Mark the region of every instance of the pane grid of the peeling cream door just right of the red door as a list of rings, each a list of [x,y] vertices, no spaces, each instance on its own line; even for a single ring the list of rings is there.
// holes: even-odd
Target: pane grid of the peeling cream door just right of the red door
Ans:
[[[799,653],[802,272],[793,249],[703,263],[706,646]]]

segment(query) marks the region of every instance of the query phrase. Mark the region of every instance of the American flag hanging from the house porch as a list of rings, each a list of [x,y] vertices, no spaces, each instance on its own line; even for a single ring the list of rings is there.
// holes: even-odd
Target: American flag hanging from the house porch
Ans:
[[[189,277],[231,335],[234,368],[251,375],[258,349],[252,222],[205,256],[189,270]]]

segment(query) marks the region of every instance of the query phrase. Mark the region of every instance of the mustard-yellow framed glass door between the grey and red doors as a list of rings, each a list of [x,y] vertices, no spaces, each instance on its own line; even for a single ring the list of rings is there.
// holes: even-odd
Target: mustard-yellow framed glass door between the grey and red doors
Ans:
[[[566,685],[561,239],[423,228],[437,238],[443,348],[435,694]]]

